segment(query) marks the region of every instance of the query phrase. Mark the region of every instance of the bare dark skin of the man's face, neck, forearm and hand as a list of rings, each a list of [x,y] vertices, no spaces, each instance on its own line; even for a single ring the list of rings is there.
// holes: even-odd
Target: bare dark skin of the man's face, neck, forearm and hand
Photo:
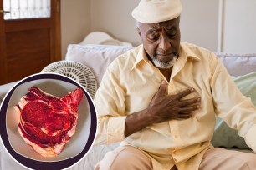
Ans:
[[[181,41],[179,23],[180,18],[174,18],[161,23],[139,24],[137,31],[150,61],[153,57],[157,57],[161,62],[169,62],[173,57],[178,56]],[[169,82],[172,67],[168,69],[157,68]],[[188,88],[175,95],[168,95],[167,82],[163,81],[149,107],[126,117],[125,137],[154,123],[191,118],[193,112],[200,107],[201,98],[194,97],[182,100],[182,97],[193,91],[193,88]]]

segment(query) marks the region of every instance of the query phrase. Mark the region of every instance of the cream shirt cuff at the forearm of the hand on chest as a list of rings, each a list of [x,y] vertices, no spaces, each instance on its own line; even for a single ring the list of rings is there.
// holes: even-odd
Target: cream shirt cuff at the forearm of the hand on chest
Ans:
[[[110,117],[107,130],[107,143],[116,143],[125,138],[126,117]]]

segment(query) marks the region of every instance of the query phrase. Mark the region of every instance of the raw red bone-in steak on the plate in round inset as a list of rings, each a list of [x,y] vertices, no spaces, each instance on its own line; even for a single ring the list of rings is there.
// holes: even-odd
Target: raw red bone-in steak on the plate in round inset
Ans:
[[[77,88],[60,98],[38,87],[29,88],[15,106],[18,132],[42,156],[58,155],[75,132],[83,94],[82,89]]]

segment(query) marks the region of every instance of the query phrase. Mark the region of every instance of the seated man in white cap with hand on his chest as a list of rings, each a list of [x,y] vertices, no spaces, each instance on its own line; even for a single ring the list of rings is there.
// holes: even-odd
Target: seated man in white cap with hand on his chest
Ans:
[[[96,169],[256,169],[256,155],[213,148],[215,116],[256,151],[256,108],[212,52],[180,42],[178,0],[141,0],[142,45],[111,63],[95,96],[96,143],[123,141]]]

